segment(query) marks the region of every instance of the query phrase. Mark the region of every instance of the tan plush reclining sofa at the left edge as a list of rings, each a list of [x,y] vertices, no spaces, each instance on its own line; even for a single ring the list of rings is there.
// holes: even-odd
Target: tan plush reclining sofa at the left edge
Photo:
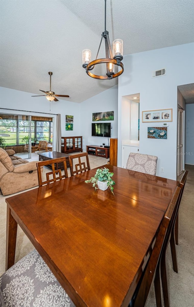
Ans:
[[[0,190],[2,195],[10,195],[37,186],[37,162],[21,159],[15,155],[14,150],[3,150],[0,147]]]

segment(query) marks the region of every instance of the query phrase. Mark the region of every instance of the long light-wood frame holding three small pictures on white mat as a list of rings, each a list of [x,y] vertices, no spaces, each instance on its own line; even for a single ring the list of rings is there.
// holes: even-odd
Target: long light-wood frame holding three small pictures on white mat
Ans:
[[[142,122],[172,122],[173,109],[151,110],[142,112]]]

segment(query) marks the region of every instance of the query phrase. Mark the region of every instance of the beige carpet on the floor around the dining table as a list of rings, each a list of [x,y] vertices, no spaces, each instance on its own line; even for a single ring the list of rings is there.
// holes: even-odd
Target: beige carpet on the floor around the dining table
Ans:
[[[33,160],[38,160],[33,155]],[[90,167],[107,163],[107,159],[89,156]],[[167,251],[167,273],[171,307],[194,306],[194,166],[186,165],[189,171],[179,210],[179,245],[177,246],[178,274],[173,271],[170,249]],[[9,196],[0,195],[0,276],[5,272],[6,250],[6,202]],[[16,261],[29,253],[33,245],[20,227],[17,232]],[[154,307],[155,296],[152,289],[146,307]]]

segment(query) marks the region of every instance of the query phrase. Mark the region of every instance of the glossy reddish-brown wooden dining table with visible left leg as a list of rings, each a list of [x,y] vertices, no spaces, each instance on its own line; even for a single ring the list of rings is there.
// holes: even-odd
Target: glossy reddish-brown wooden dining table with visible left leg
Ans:
[[[6,199],[6,269],[18,224],[77,307],[128,306],[179,183],[104,166],[114,195],[85,183],[96,168]]]

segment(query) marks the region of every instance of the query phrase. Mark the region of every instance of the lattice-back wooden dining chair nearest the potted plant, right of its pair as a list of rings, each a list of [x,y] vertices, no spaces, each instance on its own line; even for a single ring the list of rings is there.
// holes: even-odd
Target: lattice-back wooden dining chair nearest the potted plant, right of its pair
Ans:
[[[71,176],[90,170],[88,154],[78,153],[69,156],[69,167]]]

